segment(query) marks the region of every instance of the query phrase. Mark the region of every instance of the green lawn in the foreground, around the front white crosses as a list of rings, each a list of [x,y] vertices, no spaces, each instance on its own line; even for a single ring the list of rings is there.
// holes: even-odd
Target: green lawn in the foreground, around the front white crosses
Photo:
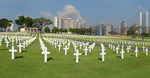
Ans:
[[[67,56],[64,51],[46,43],[49,61],[44,63],[44,55],[38,38],[23,53],[15,53],[16,59],[11,60],[8,48],[0,46],[0,78],[148,78],[150,75],[150,56],[139,52],[136,58],[132,51],[120,59],[121,54],[115,54],[106,48],[105,62],[100,56],[100,47],[96,46],[88,56],[80,51],[80,62],[75,63],[73,48]],[[17,49],[17,48],[16,48]]]

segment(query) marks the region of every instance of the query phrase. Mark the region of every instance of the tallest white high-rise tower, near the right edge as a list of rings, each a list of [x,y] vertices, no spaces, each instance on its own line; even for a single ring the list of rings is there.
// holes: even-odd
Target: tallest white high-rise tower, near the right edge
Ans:
[[[148,12],[140,12],[141,33],[148,33]]]

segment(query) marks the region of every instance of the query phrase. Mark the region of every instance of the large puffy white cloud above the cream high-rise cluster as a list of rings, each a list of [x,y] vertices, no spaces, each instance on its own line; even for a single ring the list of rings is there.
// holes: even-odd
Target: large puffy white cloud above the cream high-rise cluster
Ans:
[[[74,6],[72,5],[66,5],[64,7],[63,12],[58,12],[58,16],[63,17],[63,18],[72,18],[73,20],[80,20],[83,22],[86,22],[84,18],[80,15],[80,11],[77,10]]]

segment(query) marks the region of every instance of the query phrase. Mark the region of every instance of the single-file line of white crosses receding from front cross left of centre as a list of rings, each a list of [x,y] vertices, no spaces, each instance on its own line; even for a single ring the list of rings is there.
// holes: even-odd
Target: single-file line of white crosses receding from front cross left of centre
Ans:
[[[45,47],[45,44],[43,43],[40,37],[39,37],[39,41],[42,49],[42,54],[44,54],[44,62],[47,62],[47,55],[50,54],[50,52],[47,51],[47,47]]]

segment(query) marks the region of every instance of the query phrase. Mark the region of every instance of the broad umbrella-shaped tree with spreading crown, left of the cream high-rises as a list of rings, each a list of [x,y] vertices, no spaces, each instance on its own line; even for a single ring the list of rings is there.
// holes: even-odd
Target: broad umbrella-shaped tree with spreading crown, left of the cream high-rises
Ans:
[[[34,26],[36,26],[39,29],[40,33],[42,32],[42,28],[45,25],[50,25],[50,24],[52,24],[52,21],[47,18],[40,17],[40,18],[34,19]]]

